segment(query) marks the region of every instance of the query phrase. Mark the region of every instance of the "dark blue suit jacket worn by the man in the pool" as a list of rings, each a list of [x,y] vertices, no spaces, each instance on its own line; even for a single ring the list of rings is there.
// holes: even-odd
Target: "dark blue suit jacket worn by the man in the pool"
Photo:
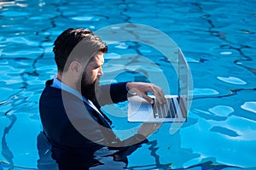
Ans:
[[[123,156],[136,150],[134,145],[129,148],[122,146],[130,142],[134,144],[135,140],[141,141],[143,137],[137,134],[120,141],[111,130],[110,120],[100,111],[100,104],[118,103],[127,99],[126,82],[101,87],[98,101],[93,101],[101,114],[77,96],[51,87],[52,82],[46,82],[39,101],[39,111],[44,135],[52,145],[52,157],[60,169],[86,169],[97,165],[99,161],[95,159],[94,152],[105,145],[116,144],[119,146],[118,153],[123,152]]]

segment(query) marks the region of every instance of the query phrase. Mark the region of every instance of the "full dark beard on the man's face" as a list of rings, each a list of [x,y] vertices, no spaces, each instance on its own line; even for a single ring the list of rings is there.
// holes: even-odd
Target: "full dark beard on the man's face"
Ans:
[[[100,91],[100,77],[96,77],[94,82],[89,82],[88,80],[90,80],[90,78],[84,73],[81,80],[81,94],[86,99],[96,100]]]

